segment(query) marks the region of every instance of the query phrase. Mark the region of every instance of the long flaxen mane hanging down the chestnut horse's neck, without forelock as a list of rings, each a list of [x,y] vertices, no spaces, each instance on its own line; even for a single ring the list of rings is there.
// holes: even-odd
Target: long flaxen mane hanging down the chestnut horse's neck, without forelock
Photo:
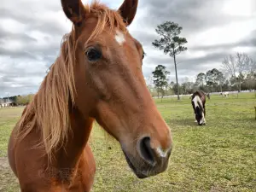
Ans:
[[[35,126],[42,128],[46,153],[63,144],[70,130],[69,102],[74,103],[75,41],[73,32],[64,36],[61,55],[50,67],[38,93],[24,109],[17,128],[23,139]]]

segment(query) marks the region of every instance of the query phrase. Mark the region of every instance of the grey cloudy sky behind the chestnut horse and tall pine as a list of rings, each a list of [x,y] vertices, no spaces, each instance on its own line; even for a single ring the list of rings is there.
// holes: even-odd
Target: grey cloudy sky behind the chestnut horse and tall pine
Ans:
[[[90,1],[83,0],[83,3]],[[123,0],[102,0],[118,9]],[[219,68],[225,55],[236,51],[256,56],[255,0],[140,0],[129,26],[147,56],[143,73],[148,78],[161,64],[175,79],[172,58],[152,46],[159,38],[155,27],[167,20],[183,26],[188,50],[177,56],[178,78]],[[1,0],[0,97],[35,93],[46,70],[59,54],[62,36],[71,22],[61,10],[61,0]]]

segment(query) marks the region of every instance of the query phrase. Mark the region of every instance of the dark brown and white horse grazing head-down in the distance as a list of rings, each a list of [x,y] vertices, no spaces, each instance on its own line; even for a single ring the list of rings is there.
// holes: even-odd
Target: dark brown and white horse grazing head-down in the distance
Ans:
[[[206,125],[206,94],[201,90],[196,90],[191,97],[191,103],[195,113],[195,122],[198,125]]]

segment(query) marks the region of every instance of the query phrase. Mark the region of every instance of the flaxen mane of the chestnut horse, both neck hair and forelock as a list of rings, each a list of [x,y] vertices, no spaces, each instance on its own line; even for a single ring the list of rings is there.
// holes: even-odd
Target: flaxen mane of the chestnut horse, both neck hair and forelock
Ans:
[[[110,30],[114,27],[126,32],[126,25],[119,12],[108,9],[107,6],[94,1],[84,6],[86,13],[95,16],[98,21],[90,39],[101,34],[106,26]],[[18,140],[26,137],[35,127],[42,132],[45,152],[51,159],[53,149],[60,148],[67,142],[68,132],[71,130],[69,106],[74,105],[76,94],[74,83],[74,66],[76,64],[75,28],[64,35],[61,44],[61,53],[55,63],[49,68],[40,85],[38,93],[32,102],[24,109],[20,121],[16,126],[16,138]],[[88,42],[87,41],[87,42]]]

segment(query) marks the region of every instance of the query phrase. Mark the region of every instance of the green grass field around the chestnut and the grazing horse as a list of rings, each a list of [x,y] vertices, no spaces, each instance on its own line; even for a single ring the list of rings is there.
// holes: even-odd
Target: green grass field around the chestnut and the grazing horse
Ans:
[[[155,101],[172,129],[174,148],[168,170],[143,180],[130,171],[119,143],[94,127],[96,158],[93,191],[256,191],[254,94],[207,100],[207,126],[197,126],[189,98]],[[19,191],[9,170],[9,134],[23,108],[0,109],[0,191]],[[111,147],[111,149],[108,149]]]

